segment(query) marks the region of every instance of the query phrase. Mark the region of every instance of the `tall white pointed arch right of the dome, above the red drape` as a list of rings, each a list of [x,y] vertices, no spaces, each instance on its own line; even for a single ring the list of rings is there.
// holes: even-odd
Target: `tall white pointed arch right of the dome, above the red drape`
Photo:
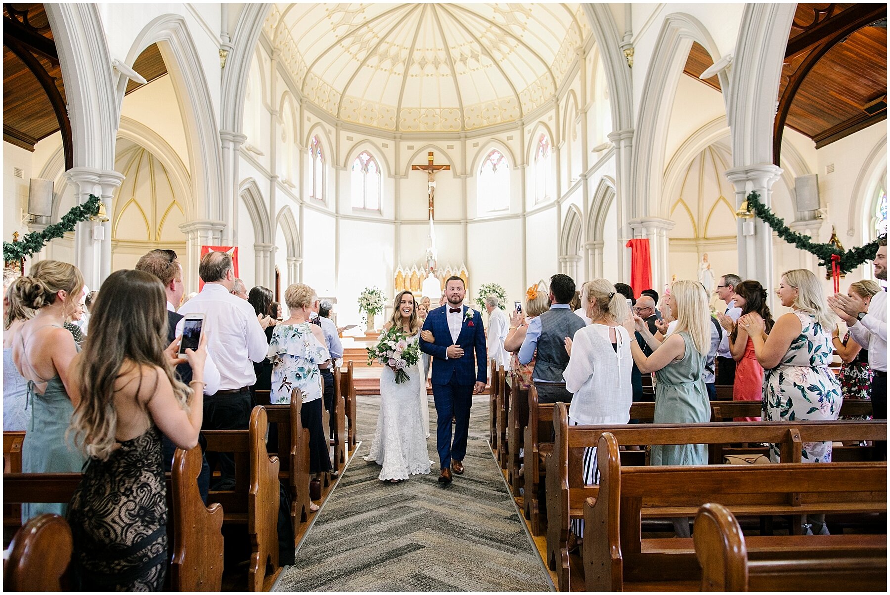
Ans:
[[[640,114],[634,139],[634,188],[629,202],[631,219],[658,213],[662,200],[662,175],[667,126],[674,105],[676,87],[692,43],[698,42],[719,60],[720,54],[708,30],[689,14],[676,12],[663,21],[646,72]],[[732,92],[725,70],[718,75],[724,102]]]

